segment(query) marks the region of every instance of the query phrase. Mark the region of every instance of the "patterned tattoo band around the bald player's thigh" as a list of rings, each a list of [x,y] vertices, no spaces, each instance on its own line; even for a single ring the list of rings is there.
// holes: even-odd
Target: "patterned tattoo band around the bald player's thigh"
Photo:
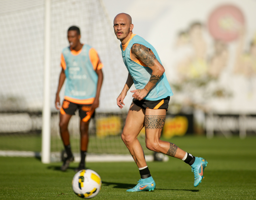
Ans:
[[[145,129],[163,129],[165,115],[145,115]]]

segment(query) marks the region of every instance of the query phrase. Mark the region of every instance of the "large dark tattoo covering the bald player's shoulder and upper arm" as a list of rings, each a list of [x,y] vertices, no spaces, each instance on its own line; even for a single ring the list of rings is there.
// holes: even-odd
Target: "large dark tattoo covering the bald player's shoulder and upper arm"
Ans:
[[[156,57],[152,51],[144,45],[134,44],[131,48],[132,54],[139,58],[145,65],[152,67],[155,65]]]

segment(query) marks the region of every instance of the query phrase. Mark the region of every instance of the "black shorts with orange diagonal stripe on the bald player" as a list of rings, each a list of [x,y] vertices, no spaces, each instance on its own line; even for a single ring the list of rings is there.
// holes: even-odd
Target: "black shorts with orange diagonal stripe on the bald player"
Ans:
[[[144,110],[146,110],[146,108],[150,108],[150,109],[165,109],[167,111],[169,101],[170,101],[169,96],[167,96],[164,99],[159,99],[156,101],[150,101],[150,100],[146,100],[146,99],[142,99],[141,101],[139,101],[135,98],[132,99],[132,102],[134,104],[143,108]]]

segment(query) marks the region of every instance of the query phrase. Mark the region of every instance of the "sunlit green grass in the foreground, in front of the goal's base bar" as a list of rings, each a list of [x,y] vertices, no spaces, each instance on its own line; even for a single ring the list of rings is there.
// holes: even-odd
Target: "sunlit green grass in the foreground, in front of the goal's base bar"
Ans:
[[[94,199],[256,199],[256,137],[174,137],[180,148],[207,159],[202,183],[193,186],[189,165],[176,158],[148,162],[156,182],[153,192],[126,192],[140,178],[133,162],[87,163],[102,179]],[[42,164],[37,158],[0,157],[0,199],[80,199],[71,187],[77,163],[66,172],[61,163]]]

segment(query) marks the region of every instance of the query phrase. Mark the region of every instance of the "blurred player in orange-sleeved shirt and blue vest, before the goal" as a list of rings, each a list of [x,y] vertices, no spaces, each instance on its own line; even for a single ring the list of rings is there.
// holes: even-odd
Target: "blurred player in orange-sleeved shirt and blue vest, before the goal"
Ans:
[[[67,30],[70,46],[61,54],[61,73],[56,93],[55,107],[60,109],[60,136],[64,144],[67,158],[61,166],[66,171],[69,163],[74,161],[70,147],[68,124],[75,111],[80,116],[80,149],[81,162],[75,171],[85,169],[85,156],[88,146],[88,128],[95,108],[99,106],[99,96],[103,82],[103,64],[94,48],[80,42],[80,29],[71,26]],[[60,107],[60,90],[66,79],[64,101]]]

